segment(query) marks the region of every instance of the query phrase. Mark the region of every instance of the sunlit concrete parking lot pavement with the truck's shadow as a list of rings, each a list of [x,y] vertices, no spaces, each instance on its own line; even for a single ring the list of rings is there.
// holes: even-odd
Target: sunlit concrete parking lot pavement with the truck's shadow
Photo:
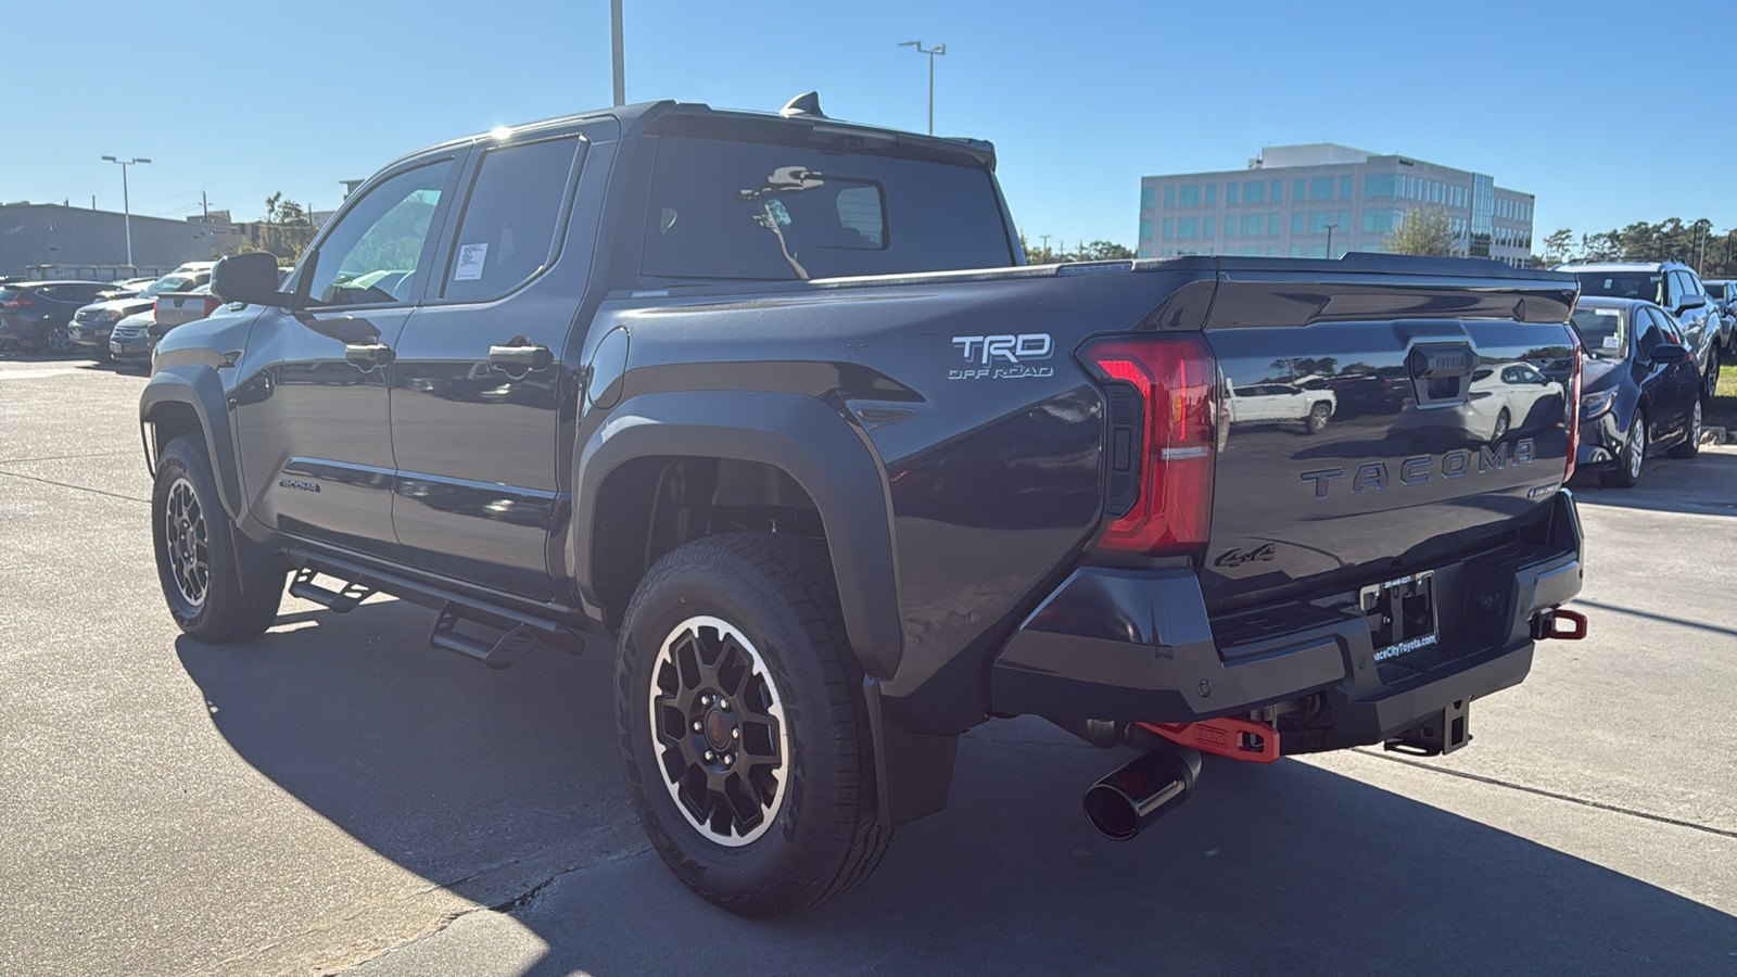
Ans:
[[[1209,758],[1115,845],[1122,754],[992,723],[865,887],[743,921],[634,824],[604,654],[492,673],[382,598],[181,636],[142,386],[0,358],[0,974],[1737,974],[1734,449],[1581,492],[1591,638],[1470,749]]]

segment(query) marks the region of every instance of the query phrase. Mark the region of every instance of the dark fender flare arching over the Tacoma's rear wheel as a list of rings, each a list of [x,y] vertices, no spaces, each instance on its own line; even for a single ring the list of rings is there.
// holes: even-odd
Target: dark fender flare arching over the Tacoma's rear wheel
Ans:
[[[670,391],[622,402],[575,457],[568,565],[598,605],[592,527],[598,499],[622,464],[655,455],[754,461],[783,469],[820,509],[844,631],[872,676],[898,669],[903,629],[886,469],[858,428],[799,393]]]

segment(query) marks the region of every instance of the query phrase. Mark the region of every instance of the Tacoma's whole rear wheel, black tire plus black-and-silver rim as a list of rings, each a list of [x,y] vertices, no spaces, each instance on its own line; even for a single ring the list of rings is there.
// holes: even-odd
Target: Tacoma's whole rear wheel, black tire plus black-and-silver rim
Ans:
[[[825,549],[731,534],[658,560],[627,608],[615,718],[634,808],[688,888],[742,916],[881,862],[863,673]]]

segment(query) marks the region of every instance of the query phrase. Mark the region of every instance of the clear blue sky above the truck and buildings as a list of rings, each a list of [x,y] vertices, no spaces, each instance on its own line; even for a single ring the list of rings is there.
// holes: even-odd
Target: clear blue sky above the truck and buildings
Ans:
[[[1322,139],[1536,193],[1539,240],[1737,224],[1728,0],[625,5],[629,101],[776,110],[818,89],[832,116],[921,130],[928,59],[896,43],[947,43],[936,132],[992,139],[1014,217],[1051,245],[1133,247],[1141,174]],[[274,191],[328,209],[406,151],[610,101],[608,0],[16,7],[5,202],[120,209],[99,156],[134,155],[155,160],[137,214],[195,214],[200,191],[238,219]]]

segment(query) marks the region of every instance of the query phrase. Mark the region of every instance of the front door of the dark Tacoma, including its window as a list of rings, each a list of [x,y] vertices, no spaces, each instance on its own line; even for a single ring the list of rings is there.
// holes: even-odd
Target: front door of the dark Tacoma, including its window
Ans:
[[[252,511],[285,534],[391,558],[391,349],[433,263],[457,160],[367,188],[297,268],[295,309],[266,309],[238,363]]]

